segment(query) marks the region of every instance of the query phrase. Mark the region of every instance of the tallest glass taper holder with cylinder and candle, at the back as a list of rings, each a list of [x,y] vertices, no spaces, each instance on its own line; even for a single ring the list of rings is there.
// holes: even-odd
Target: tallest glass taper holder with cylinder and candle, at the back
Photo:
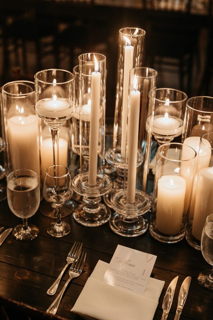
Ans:
[[[129,71],[142,66],[145,31],[140,28],[122,28],[118,40],[118,69],[116,85],[116,103],[114,117],[113,146],[106,150],[106,160],[117,169],[118,177],[113,182],[112,192],[104,196],[104,201],[110,205],[111,194],[123,188],[127,106],[129,91]],[[138,155],[140,157],[140,155]],[[137,166],[140,165],[140,160]]]

